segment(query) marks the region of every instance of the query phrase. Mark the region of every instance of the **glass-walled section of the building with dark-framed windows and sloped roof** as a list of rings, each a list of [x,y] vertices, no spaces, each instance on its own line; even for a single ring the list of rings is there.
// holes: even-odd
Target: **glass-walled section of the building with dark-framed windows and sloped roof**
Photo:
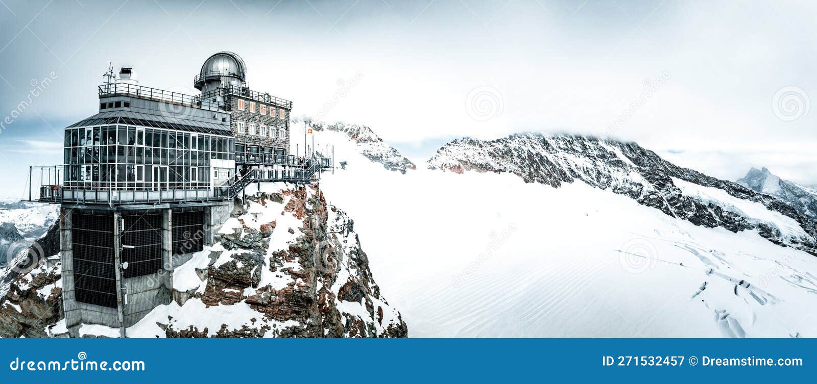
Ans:
[[[235,160],[229,126],[113,114],[100,113],[65,129],[65,187],[211,188],[212,162]]]

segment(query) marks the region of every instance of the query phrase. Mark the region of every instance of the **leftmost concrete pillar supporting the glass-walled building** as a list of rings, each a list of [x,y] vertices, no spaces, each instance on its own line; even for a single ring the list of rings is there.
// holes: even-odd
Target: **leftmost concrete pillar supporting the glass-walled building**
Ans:
[[[83,322],[82,312],[74,291],[74,240],[71,211],[60,208],[60,263],[62,264],[62,308],[65,313],[65,327],[69,336],[79,337],[79,326]]]

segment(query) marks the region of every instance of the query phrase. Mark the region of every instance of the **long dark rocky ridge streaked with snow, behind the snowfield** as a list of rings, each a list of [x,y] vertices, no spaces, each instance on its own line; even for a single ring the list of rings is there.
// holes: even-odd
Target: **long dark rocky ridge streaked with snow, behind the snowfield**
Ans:
[[[817,255],[811,218],[737,183],[675,166],[636,143],[540,134],[491,141],[458,139],[440,148],[428,161],[428,168],[456,173],[507,172],[526,183],[554,188],[581,180],[703,227],[724,227],[731,232],[757,230],[776,244]],[[717,190],[721,198],[712,198],[714,195],[704,189]],[[755,203],[761,209],[741,210],[731,204],[734,201]],[[757,215],[767,210],[773,214]]]

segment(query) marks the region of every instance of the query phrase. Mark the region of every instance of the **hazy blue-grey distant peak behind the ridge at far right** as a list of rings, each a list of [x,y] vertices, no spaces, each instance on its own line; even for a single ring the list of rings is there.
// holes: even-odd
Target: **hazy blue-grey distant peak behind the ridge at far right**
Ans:
[[[775,196],[792,205],[798,213],[817,219],[817,188],[780,179],[768,169],[752,168],[737,183],[752,191]]]

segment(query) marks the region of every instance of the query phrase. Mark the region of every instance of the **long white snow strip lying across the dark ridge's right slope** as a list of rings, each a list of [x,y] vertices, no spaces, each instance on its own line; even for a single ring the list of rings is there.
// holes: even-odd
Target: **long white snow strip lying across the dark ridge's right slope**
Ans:
[[[755,222],[770,224],[772,227],[778,228],[788,238],[808,237],[796,220],[779,212],[769,210],[766,205],[761,203],[739,199],[722,189],[704,187],[681,179],[672,178],[672,183],[680,188],[685,196],[697,197],[701,201],[719,205],[724,210],[753,218]]]

